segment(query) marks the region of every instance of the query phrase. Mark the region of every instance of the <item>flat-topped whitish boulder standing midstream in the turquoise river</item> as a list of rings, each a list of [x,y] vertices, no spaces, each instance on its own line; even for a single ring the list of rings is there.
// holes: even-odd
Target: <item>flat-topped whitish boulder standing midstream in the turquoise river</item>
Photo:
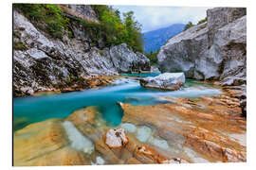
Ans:
[[[185,76],[183,73],[164,73],[142,78],[139,83],[146,88],[176,91],[185,83]]]

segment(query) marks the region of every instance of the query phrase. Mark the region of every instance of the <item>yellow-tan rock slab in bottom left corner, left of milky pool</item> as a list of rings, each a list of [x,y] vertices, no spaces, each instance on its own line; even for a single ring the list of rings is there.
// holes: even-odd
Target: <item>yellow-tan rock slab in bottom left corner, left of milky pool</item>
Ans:
[[[84,152],[69,145],[61,119],[51,119],[13,134],[14,166],[90,164]]]

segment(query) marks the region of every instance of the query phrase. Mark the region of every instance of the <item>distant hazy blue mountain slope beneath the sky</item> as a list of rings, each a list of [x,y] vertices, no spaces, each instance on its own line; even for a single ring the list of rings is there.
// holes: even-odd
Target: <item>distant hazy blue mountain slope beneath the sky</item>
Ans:
[[[174,37],[184,29],[183,24],[174,24],[172,26],[163,27],[143,34],[145,53],[155,52],[165,44],[171,37]]]

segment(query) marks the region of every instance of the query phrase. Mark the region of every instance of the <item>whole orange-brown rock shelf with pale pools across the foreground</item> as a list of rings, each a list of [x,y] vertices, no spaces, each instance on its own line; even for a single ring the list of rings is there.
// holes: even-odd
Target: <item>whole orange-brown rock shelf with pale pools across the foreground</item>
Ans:
[[[118,127],[109,127],[97,107],[31,124],[14,132],[14,165],[247,161],[247,121],[235,94],[119,103]]]

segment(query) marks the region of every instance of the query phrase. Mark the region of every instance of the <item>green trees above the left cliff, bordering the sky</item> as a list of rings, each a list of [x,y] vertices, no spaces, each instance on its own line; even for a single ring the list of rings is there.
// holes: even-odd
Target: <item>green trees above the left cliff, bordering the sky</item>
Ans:
[[[108,6],[94,5],[92,8],[101,21],[97,29],[106,46],[112,44],[127,43],[135,51],[142,52],[141,26],[135,21],[134,13],[123,13],[123,21],[120,19],[119,10],[113,10]]]

